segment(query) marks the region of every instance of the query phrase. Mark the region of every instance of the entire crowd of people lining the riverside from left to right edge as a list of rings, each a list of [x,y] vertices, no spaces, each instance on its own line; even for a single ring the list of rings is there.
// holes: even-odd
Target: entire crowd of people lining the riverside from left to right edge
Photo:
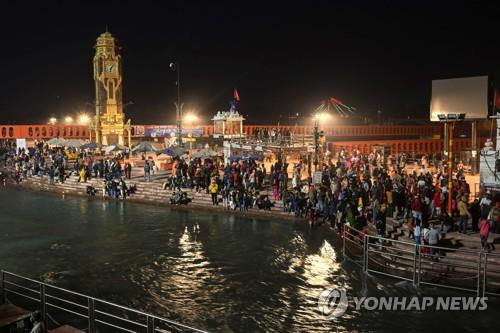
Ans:
[[[125,183],[131,178],[129,162],[83,152],[69,163],[66,150],[43,142],[30,149],[4,150],[4,164],[15,170],[16,181],[46,176],[50,183],[64,182],[75,174],[80,182],[103,179],[103,195],[125,198],[131,193]],[[144,181],[148,182],[156,166],[152,159],[143,160]],[[214,206],[227,210],[271,210],[282,201],[285,212],[307,218],[311,225],[328,223],[338,232],[346,223],[357,230],[366,230],[371,223],[385,236],[386,218],[391,217],[403,221],[408,237],[417,243],[436,243],[432,230],[439,227],[439,234],[480,232],[486,247],[489,233],[500,233],[498,196],[485,192],[470,202],[464,171],[454,173],[450,192],[447,170],[434,164],[424,157],[418,167],[408,168],[405,154],[387,159],[380,152],[341,151],[335,159],[323,161],[314,177],[305,178],[306,161],[302,160],[289,165],[278,159],[268,171],[263,162],[252,159],[224,164],[221,158],[177,158],[163,187],[175,191],[173,203],[190,202],[183,192],[186,189],[210,195]],[[95,189],[88,192],[91,195]]]

